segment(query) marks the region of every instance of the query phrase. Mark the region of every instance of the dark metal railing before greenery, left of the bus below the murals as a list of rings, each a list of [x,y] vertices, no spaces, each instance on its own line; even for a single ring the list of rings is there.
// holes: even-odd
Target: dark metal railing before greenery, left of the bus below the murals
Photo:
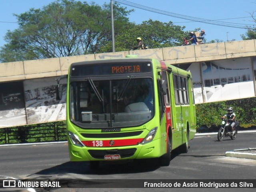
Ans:
[[[0,129],[0,144],[66,141],[66,123],[52,122]]]

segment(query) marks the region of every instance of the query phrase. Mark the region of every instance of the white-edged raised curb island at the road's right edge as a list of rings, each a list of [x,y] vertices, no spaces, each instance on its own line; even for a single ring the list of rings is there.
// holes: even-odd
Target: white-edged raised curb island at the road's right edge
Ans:
[[[233,151],[227,151],[226,156],[256,160],[256,148],[236,149]]]

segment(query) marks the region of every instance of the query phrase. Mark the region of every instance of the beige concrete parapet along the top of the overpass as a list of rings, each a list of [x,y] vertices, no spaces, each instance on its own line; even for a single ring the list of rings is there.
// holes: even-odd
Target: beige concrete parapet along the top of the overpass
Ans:
[[[255,41],[256,40],[222,42],[196,46],[98,53],[52,59],[0,63],[0,82],[56,77],[67,74],[68,67],[74,62],[94,59],[123,58],[128,54],[136,54],[138,57],[156,58],[165,61],[168,64],[251,57],[256,55]]]

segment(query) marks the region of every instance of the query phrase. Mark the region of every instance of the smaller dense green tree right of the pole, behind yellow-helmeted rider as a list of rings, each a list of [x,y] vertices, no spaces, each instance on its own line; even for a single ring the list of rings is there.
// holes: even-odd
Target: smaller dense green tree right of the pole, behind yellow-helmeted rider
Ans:
[[[130,23],[127,28],[120,30],[115,36],[115,51],[127,51],[136,45],[136,38],[140,37],[149,48],[165,48],[180,46],[183,38],[188,36],[184,26],[175,26],[171,21],[163,23],[148,20],[140,25]],[[110,52],[111,42],[100,48],[101,52]]]

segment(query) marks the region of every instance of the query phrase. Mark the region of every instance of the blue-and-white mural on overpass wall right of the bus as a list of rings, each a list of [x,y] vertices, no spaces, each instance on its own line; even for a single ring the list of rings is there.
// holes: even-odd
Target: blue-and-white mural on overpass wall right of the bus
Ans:
[[[192,72],[196,103],[255,96],[250,57],[192,63],[188,70]]]

